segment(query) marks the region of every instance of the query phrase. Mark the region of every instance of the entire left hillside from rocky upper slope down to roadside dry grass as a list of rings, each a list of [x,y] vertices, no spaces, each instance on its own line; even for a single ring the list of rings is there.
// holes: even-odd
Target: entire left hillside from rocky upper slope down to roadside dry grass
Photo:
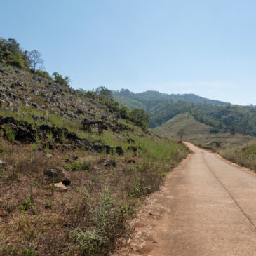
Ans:
[[[114,100],[48,75],[1,64],[0,97],[0,255],[107,255],[187,155]],[[103,134],[82,121],[104,121]]]

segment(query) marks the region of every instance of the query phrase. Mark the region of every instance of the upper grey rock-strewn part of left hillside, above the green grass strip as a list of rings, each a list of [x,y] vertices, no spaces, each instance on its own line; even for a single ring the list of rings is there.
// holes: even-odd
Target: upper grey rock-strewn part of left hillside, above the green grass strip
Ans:
[[[20,107],[32,107],[46,116],[54,114],[77,122],[84,116],[105,121],[116,119],[111,109],[104,105],[99,107],[99,99],[95,99],[95,95],[61,86],[50,77],[43,78],[10,66],[1,67],[0,74],[0,101],[4,110],[19,112]],[[93,99],[90,96],[94,96]],[[36,119],[36,116],[32,118]]]

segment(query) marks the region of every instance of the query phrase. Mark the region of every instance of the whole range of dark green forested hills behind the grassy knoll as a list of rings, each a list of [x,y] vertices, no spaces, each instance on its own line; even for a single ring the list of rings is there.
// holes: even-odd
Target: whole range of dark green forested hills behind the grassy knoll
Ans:
[[[131,93],[122,89],[112,92],[112,95],[126,107],[145,109],[151,119],[151,128],[160,126],[177,114],[189,113],[196,121],[213,127],[213,133],[229,130],[256,136],[256,107],[252,105],[231,105],[194,94],[167,95],[156,91]]]

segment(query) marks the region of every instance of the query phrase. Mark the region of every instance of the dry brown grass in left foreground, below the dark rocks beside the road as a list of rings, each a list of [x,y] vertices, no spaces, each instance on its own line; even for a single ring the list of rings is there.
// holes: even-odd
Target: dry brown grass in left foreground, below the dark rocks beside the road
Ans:
[[[111,230],[112,235],[98,245],[97,252],[114,250],[116,238],[128,232],[126,220],[134,215],[133,208],[161,184],[165,173],[159,169],[168,171],[171,164],[183,157],[172,159],[172,163],[166,160],[149,163],[144,154],[125,152],[123,156],[107,156],[57,149],[46,154],[38,151],[37,146],[11,144],[0,138],[0,159],[6,163],[0,178],[1,255],[86,255],[88,248],[81,245],[79,238],[75,239],[75,234],[97,227],[95,209],[102,207],[100,197],[106,187],[113,205],[105,220],[108,223],[105,231]],[[43,171],[49,166],[64,167],[65,159],[74,155],[78,156],[76,161],[86,161],[93,168],[63,169],[72,180],[67,193],[51,189]],[[135,163],[128,163],[132,155]],[[116,161],[116,167],[103,166],[101,160],[106,158]]]

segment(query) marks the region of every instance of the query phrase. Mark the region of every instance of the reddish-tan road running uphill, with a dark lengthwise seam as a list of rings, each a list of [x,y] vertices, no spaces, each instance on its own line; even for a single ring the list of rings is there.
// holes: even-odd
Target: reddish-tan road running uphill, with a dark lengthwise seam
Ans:
[[[194,151],[147,198],[114,255],[256,256],[256,175]]]

